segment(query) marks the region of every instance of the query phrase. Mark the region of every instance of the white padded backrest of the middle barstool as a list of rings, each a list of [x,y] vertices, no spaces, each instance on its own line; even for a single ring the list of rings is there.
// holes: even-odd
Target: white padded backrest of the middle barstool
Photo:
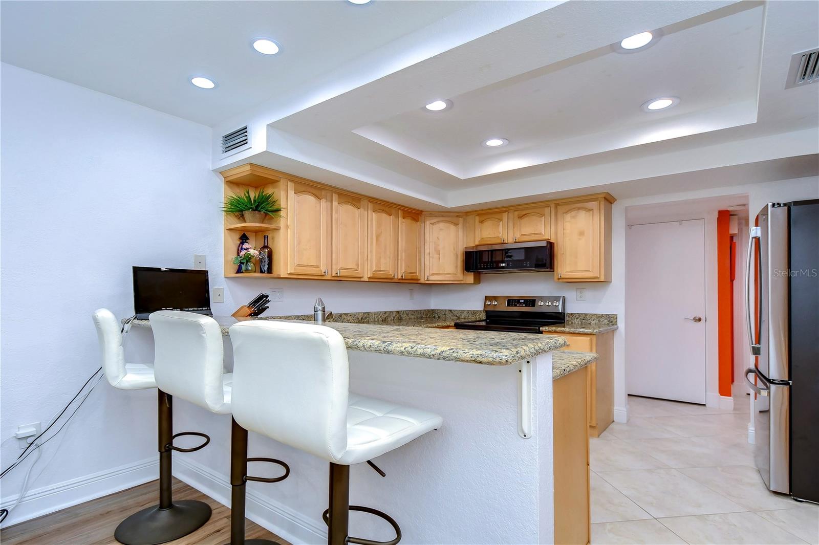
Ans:
[[[211,412],[224,404],[222,331],[210,316],[160,310],[148,317],[156,386]]]

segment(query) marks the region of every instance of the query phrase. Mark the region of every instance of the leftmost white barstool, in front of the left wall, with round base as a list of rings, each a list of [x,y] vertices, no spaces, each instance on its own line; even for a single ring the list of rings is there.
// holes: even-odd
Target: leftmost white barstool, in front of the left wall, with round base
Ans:
[[[106,380],[120,390],[156,388],[154,366],[146,363],[125,363],[122,330],[114,314],[107,309],[93,313],[97,327],[102,372]],[[170,450],[172,421],[170,396],[158,390],[160,501],[123,520],[116,527],[114,538],[125,545],[157,545],[191,534],[210,518],[210,506],[194,500],[173,502],[170,493]]]

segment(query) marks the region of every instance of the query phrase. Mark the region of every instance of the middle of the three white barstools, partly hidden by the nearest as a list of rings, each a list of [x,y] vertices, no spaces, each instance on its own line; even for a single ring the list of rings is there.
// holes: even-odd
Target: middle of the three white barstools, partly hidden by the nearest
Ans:
[[[222,331],[213,318],[201,314],[161,310],[150,317],[154,335],[156,385],[168,393],[216,414],[230,414],[233,375],[224,373]],[[238,428],[238,430],[237,430]],[[178,437],[177,434],[173,437]],[[247,430],[233,422],[231,430],[231,544],[273,544],[267,540],[245,542],[246,480],[276,482],[287,477],[287,464],[268,458],[247,458]],[[207,444],[207,442],[205,443]],[[204,444],[201,445],[205,446]],[[171,448],[174,448],[173,446]],[[196,449],[201,448],[197,447]],[[183,450],[174,448],[174,450]],[[190,452],[193,449],[184,449]],[[170,455],[170,453],[169,453]],[[285,475],[276,479],[247,476],[247,462],[274,462],[285,468]],[[170,468],[170,464],[169,464]],[[169,470],[170,471],[170,470]],[[241,489],[241,494],[238,493]]]

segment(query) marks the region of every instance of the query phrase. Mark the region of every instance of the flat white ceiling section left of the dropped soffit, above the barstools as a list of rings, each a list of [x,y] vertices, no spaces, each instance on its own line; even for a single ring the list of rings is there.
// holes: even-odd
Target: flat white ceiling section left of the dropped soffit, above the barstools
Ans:
[[[212,125],[475,2],[419,3],[2,2],[2,61]]]

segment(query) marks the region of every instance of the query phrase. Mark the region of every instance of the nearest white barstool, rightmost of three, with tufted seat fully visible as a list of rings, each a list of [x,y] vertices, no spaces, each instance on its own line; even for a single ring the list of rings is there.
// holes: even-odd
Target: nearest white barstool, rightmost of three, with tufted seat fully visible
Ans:
[[[247,430],[330,462],[330,505],[323,515],[329,545],[398,543],[400,528],[390,516],[350,505],[350,466],[437,430],[441,417],[350,394],[344,340],[329,327],[242,322],[230,328],[230,340],[233,419]],[[396,537],[375,542],[348,536],[349,511],[382,517]]]

